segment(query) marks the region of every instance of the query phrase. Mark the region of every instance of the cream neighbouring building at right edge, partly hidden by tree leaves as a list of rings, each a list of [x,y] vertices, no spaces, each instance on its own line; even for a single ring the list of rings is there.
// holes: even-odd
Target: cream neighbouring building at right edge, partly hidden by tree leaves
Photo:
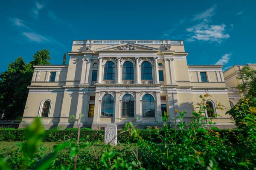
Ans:
[[[256,70],[256,64],[234,65],[223,73],[226,85],[227,87],[229,87],[227,89],[227,92],[231,106],[236,105],[239,99],[245,96],[245,93],[240,93],[239,90],[236,88],[236,86],[242,82],[241,79],[237,79],[237,76],[241,74],[241,69],[245,66]]]

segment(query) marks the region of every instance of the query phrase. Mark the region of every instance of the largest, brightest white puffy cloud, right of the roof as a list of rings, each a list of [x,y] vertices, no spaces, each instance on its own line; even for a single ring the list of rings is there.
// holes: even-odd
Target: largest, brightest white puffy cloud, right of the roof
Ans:
[[[230,37],[229,34],[225,34],[225,24],[222,25],[208,25],[206,23],[200,23],[198,25],[187,28],[186,31],[191,32],[191,37],[187,40],[203,40],[209,42],[221,43],[224,39]]]

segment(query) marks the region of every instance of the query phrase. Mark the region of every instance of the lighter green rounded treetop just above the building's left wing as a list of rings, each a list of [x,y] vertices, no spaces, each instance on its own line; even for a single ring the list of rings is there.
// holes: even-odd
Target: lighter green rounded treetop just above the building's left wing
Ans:
[[[50,65],[51,63],[49,60],[51,57],[49,56],[50,52],[49,50],[46,50],[45,48],[41,51],[39,50],[36,54],[32,55],[34,60],[32,60],[30,63],[32,65]]]

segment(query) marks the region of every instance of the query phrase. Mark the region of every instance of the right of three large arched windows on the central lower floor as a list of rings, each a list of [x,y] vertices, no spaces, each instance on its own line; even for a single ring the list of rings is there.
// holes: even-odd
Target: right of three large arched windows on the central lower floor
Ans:
[[[142,98],[142,114],[143,117],[154,117],[154,98],[150,94],[145,94]]]

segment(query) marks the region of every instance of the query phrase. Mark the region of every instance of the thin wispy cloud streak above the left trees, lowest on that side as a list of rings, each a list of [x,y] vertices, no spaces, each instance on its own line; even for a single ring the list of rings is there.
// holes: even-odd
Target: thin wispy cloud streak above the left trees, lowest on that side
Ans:
[[[43,36],[41,34],[37,34],[35,32],[23,32],[22,33],[25,37],[27,37],[30,41],[38,42],[41,44],[50,44],[50,45],[58,45],[60,47],[66,48],[65,45],[61,44],[54,38],[50,36]]]

